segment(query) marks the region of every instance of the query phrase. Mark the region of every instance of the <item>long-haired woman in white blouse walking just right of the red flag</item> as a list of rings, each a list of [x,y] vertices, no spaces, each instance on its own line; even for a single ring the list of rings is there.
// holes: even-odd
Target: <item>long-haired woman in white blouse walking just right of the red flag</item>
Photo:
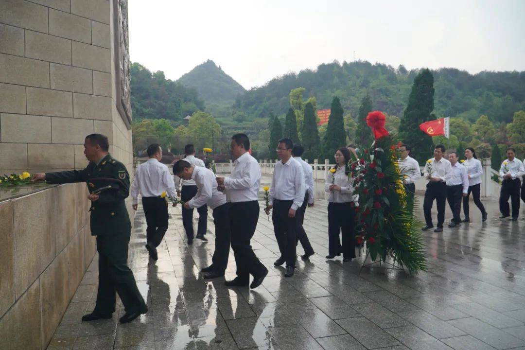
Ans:
[[[465,162],[463,165],[467,168],[468,174],[468,194],[466,197],[463,197],[463,213],[465,214],[464,222],[470,221],[469,217],[469,207],[468,200],[470,198],[470,193],[472,192],[472,197],[474,197],[474,203],[478,206],[481,211],[481,220],[487,220],[487,211],[481,200],[479,199],[479,193],[481,190],[481,175],[483,174],[483,168],[481,167],[481,162],[476,157],[476,151],[472,147],[468,147],[465,150]]]

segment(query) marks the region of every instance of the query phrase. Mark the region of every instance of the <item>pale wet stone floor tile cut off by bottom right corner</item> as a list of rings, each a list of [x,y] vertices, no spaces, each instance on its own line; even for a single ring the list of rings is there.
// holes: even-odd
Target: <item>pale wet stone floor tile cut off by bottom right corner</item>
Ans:
[[[448,323],[500,350],[525,346],[525,341],[472,317],[452,320]]]

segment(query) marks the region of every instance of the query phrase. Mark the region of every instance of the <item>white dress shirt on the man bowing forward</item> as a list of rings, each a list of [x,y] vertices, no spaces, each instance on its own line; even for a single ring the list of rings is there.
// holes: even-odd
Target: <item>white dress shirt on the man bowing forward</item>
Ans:
[[[205,167],[193,168],[192,179],[197,185],[197,194],[188,201],[190,208],[200,208],[207,204],[215,209],[226,203],[226,195],[217,190],[215,174]]]

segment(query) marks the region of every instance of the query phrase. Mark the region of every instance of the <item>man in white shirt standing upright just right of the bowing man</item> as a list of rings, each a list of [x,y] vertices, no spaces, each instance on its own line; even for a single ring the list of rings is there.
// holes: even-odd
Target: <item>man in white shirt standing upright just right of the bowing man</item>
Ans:
[[[246,134],[233,135],[230,143],[230,152],[235,158],[232,174],[216,178],[217,189],[224,191],[226,200],[232,203],[229,218],[237,277],[224,283],[228,287],[248,285],[251,274],[254,280],[250,288],[256,288],[268,274],[268,269],[257,259],[250,246],[259,219],[257,196],[261,169],[257,160],[248,153],[249,149],[250,140]]]

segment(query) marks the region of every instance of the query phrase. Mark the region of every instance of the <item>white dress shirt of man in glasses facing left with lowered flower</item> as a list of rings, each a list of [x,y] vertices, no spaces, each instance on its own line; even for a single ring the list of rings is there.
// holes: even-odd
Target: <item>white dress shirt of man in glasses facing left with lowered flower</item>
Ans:
[[[291,208],[297,210],[304,201],[305,193],[301,164],[293,158],[285,164],[282,164],[282,161],[277,162],[271,178],[270,205],[274,205],[274,199],[293,200]]]

